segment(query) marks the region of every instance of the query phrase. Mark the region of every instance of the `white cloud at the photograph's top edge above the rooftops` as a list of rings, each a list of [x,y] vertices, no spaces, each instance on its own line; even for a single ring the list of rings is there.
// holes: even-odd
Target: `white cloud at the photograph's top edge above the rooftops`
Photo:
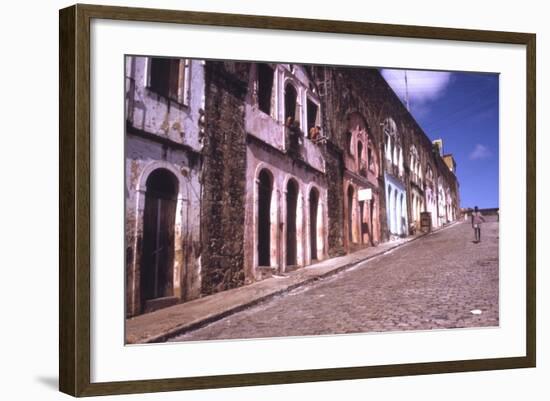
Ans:
[[[426,103],[439,98],[451,82],[452,73],[441,71],[388,70],[380,71],[386,82],[405,100],[405,72],[410,103]]]

